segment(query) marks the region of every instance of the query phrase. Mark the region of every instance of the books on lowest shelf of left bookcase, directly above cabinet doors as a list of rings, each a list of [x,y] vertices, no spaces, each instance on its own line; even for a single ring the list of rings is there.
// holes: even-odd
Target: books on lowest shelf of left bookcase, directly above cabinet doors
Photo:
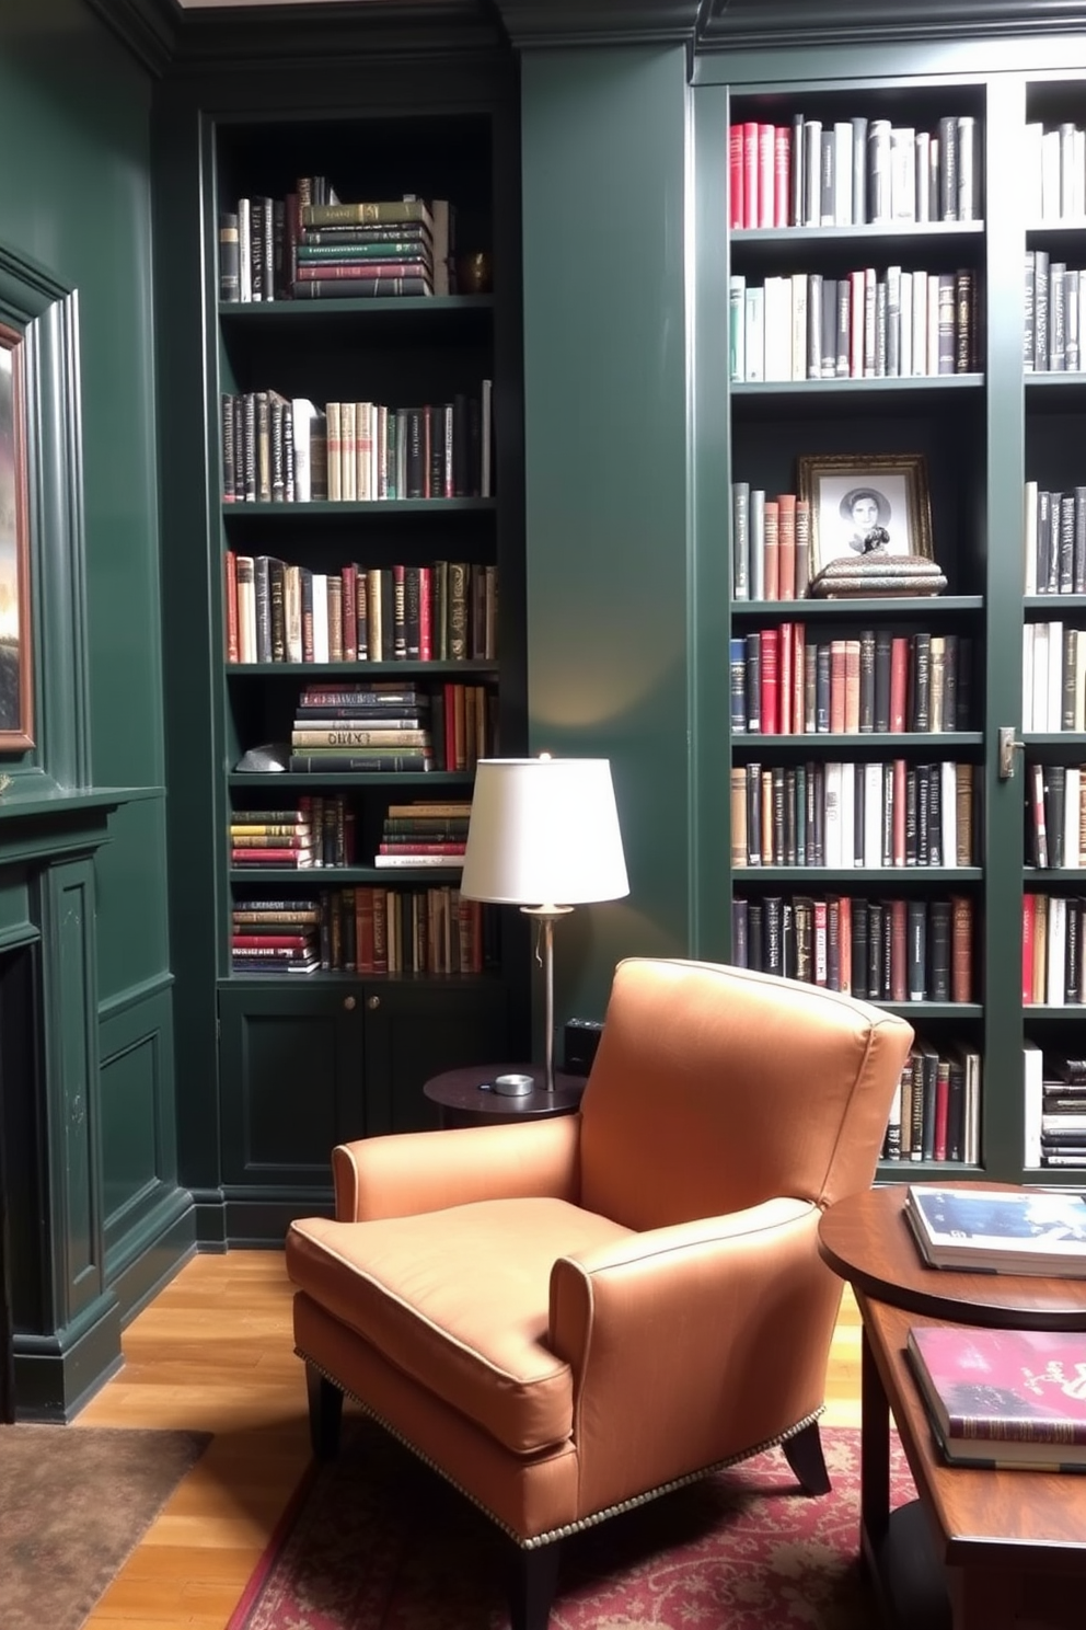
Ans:
[[[493,908],[453,885],[322,888],[239,900],[234,973],[482,973],[495,957]]]

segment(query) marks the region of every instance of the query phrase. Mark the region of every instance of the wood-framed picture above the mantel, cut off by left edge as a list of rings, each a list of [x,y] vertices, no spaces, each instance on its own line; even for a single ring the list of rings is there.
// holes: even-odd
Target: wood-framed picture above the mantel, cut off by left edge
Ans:
[[[0,753],[34,745],[23,336],[0,323]]]

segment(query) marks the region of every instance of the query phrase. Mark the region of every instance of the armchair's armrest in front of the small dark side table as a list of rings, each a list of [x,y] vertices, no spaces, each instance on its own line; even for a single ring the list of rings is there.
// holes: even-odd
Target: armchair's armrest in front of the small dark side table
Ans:
[[[340,1222],[441,1211],[474,1200],[580,1193],[578,1115],[513,1126],[392,1133],[332,1149]]]

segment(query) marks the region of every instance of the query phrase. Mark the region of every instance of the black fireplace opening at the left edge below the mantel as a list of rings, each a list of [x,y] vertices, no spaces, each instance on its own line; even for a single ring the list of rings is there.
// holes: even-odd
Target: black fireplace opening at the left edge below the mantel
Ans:
[[[33,1250],[33,1219],[41,1200],[36,1014],[36,947],[0,952],[0,1421],[15,1420],[18,1242],[20,1234],[29,1231],[31,1239],[24,1244]],[[33,1255],[24,1267],[31,1268],[31,1263]],[[31,1268],[31,1283],[34,1278]]]

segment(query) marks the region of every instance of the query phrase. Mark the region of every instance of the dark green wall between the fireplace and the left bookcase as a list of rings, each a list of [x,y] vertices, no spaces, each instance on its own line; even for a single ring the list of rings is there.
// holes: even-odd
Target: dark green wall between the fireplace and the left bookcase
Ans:
[[[3,0],[0,243],[78,295],[91,774],[99,786],[164,781],[150,103],[150,80],[83,0]],[[177,1209],[163,797],[120,808],[111,836],[96,861],[99,1014],[150,1004],[145,1022],[130,1027],[155,1038],[103,1074],[107,1237],[132,1258],[161,1232],[163,1211]]]

